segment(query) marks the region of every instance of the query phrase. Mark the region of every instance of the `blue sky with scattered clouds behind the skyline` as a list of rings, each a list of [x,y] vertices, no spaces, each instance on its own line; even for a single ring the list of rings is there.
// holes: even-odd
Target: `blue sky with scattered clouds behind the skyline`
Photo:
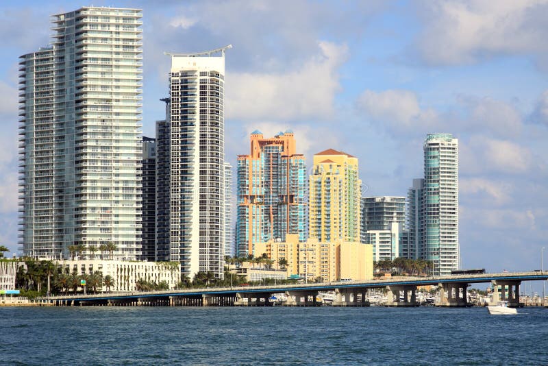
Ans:
[[[16,250],[17,62],[74,1],[0,5],[0,244]],[[98,1],[143,9],[143,130],[164,51],[227,51],[227,160],[291,128],[360,158],[364,195],[406,195],[425,134],[460,142],[462,267],[540,268],[548,247],[548,1]],[[547,253],[545,253],[547,254]],[[548,254],[545,256],[548,259]],[[548,267],[548,261],[547,261]]]

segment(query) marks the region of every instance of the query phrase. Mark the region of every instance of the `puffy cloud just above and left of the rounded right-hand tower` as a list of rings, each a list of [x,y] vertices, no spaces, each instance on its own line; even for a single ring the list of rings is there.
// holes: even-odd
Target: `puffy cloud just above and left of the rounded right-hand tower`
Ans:
[[[421,108],[416,94],[410,90],[365,90],[358,97],[357,106],[360,112],[395,133],[423,133],[438,123],[436,111]]]

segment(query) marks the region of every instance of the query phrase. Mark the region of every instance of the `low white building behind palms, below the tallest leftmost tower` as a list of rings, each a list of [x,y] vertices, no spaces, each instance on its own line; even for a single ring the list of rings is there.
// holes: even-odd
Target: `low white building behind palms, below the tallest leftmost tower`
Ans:
[[[111,276],[114,285],[110,291],[136,291],[139,280],[159,284],[165,281],[169,289],[181,279],[181,265],[178,262],[145,262],[125,260],[56,260],[56,265],[63,267],[66,273],[92,274],[101,271],[103,278]],[[106,291],[106,286],[100,289]]]

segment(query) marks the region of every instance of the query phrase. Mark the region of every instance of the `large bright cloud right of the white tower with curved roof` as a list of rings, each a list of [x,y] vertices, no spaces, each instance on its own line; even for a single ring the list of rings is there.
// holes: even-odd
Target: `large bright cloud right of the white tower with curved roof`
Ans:
[[[227,73],[229,119],[295,121],[334,114],[340,90],[338,67],[347,60],[346,45],[319,42],[320,55],[287,73]]]

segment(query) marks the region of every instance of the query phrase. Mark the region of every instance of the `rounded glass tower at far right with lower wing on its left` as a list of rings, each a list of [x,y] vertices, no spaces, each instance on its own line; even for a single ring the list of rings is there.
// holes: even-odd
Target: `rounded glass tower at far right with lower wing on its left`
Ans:
[[[438,276],[459,268],[458,140],[428,134],[424,143],[424,179],[408,194],[410,245],[416,257],[432,260]]]

